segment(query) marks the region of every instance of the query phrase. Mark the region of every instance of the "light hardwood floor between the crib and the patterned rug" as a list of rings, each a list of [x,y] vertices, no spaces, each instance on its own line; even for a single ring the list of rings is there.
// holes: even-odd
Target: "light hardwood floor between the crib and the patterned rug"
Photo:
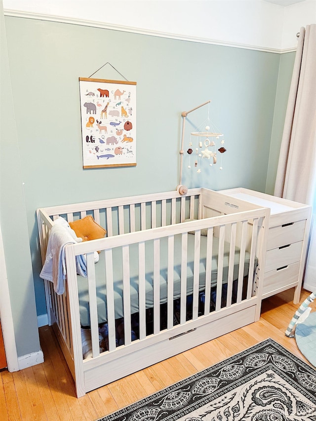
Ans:
[[[300,304],[309,296],[302,291]],[[77,399],[72,376],[52,329],[40,328],[42,364],[0,372],[1,421],[93,421],[184,379],[267,338],[304,359],[284,332],[298,305],[293,290],[263,301],[260,321],[197,346]],[[312,304],[316,310],[316,302]],[[306,361],[306,360],[305,360]]]

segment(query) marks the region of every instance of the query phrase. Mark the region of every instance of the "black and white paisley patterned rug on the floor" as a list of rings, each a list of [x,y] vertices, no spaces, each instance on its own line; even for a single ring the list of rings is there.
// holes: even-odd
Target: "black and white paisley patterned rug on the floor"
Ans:
[[[316,421],[316,370],[272,339],[99,421]]]

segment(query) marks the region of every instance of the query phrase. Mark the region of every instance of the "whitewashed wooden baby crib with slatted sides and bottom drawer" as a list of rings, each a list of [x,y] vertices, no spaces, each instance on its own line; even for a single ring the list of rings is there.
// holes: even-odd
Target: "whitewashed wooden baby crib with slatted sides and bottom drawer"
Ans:
[[[59,216],[91,215],[107,230],[105,238],[65,246],[64,294],[44,281],[49,324],[77,396],[258,320],[269,214],[207,189],[38,209],[42,263]],[[79,255],[87,277],[77,274]],[[91,337],[85,359],[83,327]]]

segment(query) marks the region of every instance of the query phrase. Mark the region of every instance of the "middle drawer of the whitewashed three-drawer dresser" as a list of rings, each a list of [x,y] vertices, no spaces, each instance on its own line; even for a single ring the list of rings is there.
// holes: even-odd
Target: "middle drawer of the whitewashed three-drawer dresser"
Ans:
[[[268,250],[266,254],[265,272],[279,269],[301,260],[303,241]]]

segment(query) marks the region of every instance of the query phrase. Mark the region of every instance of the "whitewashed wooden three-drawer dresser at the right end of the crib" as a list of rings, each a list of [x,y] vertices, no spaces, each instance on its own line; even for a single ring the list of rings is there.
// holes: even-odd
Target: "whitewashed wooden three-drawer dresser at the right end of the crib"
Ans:
[[[295,287],[294,304],[297,304],[312,207],[243,188],[222,190],[221,193],[271,209],[262,299]]]

